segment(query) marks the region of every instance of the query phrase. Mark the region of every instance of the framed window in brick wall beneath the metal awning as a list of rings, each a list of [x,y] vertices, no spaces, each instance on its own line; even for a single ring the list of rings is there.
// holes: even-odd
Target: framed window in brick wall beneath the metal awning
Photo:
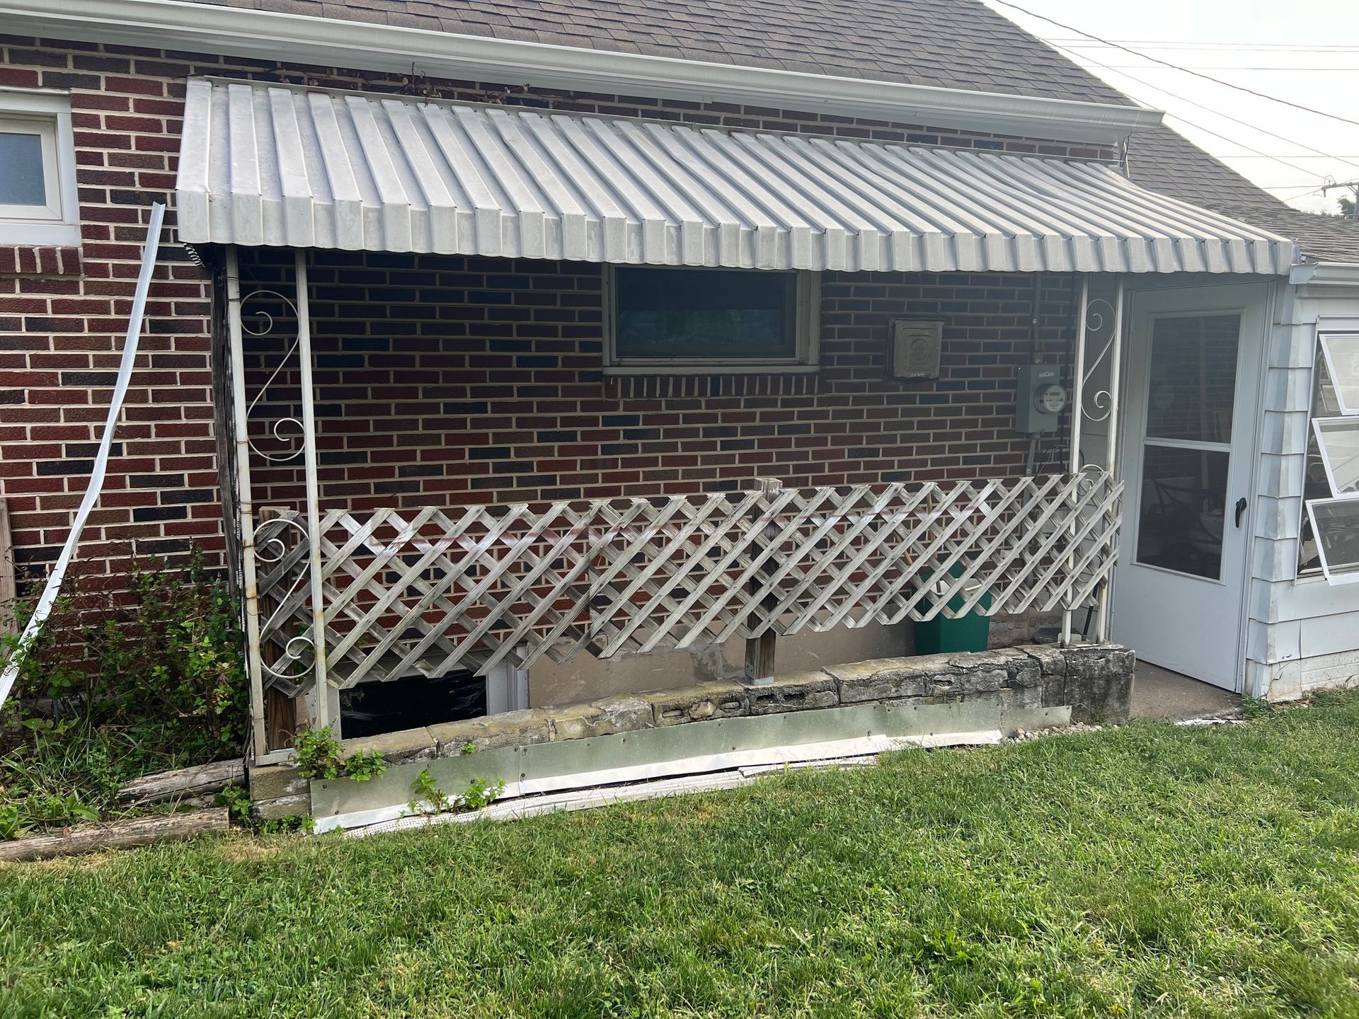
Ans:
[[[810,371],[818,304],[810,272],[609,266],[605,371]]]

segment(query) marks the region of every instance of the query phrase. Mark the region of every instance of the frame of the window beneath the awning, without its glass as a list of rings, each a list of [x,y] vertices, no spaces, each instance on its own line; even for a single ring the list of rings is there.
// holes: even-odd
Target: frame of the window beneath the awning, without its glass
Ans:
[[[632,268],[632,266],[624,266]],[[647,269],[670,266],[647,265]],[[771,269],[711,269],[700,265],[677,265],[675,269],[705,272],[775,272]],[[798,353],[795,357],[618,357],[617,304],[614,303],[616,266],[603,268],[603,374],[605,375],[742,375],[799,374],[819,371],[821,360],[821,273],[798,273],[796,321],[794,323]]]

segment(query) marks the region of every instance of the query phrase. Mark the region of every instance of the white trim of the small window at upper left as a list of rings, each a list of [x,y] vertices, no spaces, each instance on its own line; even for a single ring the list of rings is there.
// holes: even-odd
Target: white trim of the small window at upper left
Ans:
[[[80,197],[71,95],[37,88],[0,88],[0,130],[29,125],[42,136],[48,207],[0,205],[0,245],[65,247],[80,243]]]

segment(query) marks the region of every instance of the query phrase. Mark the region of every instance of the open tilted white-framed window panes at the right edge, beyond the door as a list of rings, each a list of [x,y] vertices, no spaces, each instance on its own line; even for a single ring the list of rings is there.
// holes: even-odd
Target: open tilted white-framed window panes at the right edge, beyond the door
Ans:
[[[1359,333],[1318,337],[1298,573],[1359,583]]]

